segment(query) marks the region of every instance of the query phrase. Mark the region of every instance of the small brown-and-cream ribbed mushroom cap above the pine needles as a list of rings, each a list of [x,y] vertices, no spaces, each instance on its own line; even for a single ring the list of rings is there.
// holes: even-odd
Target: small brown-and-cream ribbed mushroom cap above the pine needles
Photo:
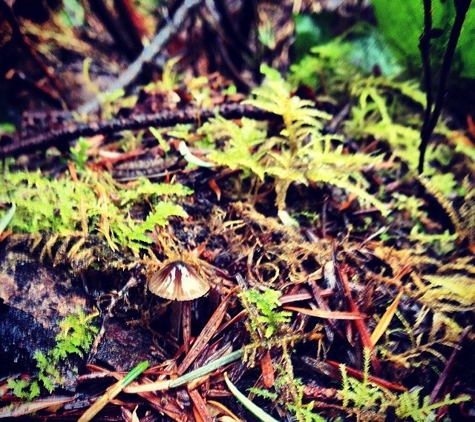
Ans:
[[[152,275],[148,288],[164,299],[184,301],[204,296],[210,285],[190,265],[173,261]]]

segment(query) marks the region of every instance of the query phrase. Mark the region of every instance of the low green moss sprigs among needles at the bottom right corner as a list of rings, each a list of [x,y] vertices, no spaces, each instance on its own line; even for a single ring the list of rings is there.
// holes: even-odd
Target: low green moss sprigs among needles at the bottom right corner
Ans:
[[[435,421],[434,411],[438,408],[470,400],[469,396],[452,399],[447,395],[442,401],[430,404],[429,396],[420,397],[422,387],[393,393],[369,380],[370,361],[371,351],[366,348],[361,381],[350,377],[345,365],[340,365],[342,389],[339,392],[343,399],[342,405],[350,414],[356,414],[358,420],[372,420],[371,414],[384,415],[389,407],[394,407],[399,420]]]

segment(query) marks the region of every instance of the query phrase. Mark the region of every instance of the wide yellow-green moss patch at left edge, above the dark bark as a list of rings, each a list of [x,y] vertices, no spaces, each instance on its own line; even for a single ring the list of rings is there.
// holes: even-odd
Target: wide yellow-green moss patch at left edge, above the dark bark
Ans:
[[[10,222],[20,233],[52,232],[68,236],[101,233],[113,250],[128,247],[137,252],[152,240],[146,235],[155,224],[165,225],[170,216],[186,217],[182,207],[164,197],[184,196],[191,190],[181,185],[153,184],[139,179],[131,188],[117,185],[106,173],[86,168],[79,180],[66,175],[50,180],[40,171],[27,173],[3,170],[0,202],[15,198],[17,210]],[[147,204],[145,221],[133,219],[130,207]]]

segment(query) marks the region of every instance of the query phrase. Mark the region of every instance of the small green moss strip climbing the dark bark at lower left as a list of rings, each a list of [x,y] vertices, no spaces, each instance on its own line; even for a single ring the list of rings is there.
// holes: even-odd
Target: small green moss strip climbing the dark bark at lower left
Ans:
[[[81,357],[89,351],[98,328],[92,320],[99,315],[95,312],[85,315],[78,307],[77,315],[68,315],[60,323],[60,332],[56,336],[56,346],[46,354],[37,350],[34,354],[38,374],[31,381],[9,380],[8,386],[17,397],[32,400],[45,388],[50,393],[63,384],[61,364],[68,357],[77,354]]]

